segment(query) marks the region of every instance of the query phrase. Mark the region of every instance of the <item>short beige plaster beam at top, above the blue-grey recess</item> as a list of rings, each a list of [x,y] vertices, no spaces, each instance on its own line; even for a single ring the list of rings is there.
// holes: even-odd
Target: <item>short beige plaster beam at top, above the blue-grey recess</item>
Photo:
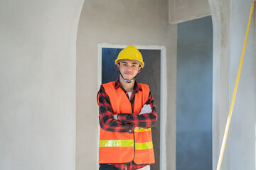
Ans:
[[[210,16],[207,0],[169,0],[169,23],[181,23]]]

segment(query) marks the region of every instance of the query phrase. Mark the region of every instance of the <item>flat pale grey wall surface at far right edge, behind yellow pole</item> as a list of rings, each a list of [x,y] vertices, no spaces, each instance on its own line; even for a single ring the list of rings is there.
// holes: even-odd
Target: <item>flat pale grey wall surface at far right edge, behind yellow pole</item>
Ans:
[[[230,18],[230,101],[245,38],[251,1],[234,0]],[[255,169],[256,145],[256,15],[247,42],[233,118],[230,123],[230,169]],[[242,153],[242,154],[241,154]],[[242,155],[246,155],[242,157]]]

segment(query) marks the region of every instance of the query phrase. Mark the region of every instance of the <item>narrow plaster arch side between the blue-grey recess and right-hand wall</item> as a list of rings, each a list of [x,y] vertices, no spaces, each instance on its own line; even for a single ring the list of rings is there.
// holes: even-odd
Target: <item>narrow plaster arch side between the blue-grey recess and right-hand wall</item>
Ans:
[[[213,169],[216,169],[230,103],[230,1],[208,2],[213,20]],[[229,149],[228,136],[225,152]],[[229,162],[225,155],[222,168],[229,169]]]

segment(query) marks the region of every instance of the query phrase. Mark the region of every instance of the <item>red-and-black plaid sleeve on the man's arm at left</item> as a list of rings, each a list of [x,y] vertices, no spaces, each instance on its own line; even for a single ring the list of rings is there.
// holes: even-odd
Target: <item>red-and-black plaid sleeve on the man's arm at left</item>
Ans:
[[[134,125],[124,124],[118,120],[114,120],[110,98],[107,96],[103,86],[100,87],[100,91],[97,94],[97,102],[99,104],[100,128],[111,132],[133,132]]]

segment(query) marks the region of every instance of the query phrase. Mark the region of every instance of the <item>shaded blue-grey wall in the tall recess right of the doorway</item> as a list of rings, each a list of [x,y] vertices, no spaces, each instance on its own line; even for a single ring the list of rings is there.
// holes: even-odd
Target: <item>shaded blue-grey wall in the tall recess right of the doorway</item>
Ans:
[[[212,168],[211,17],[178,23],[176,169]]]

